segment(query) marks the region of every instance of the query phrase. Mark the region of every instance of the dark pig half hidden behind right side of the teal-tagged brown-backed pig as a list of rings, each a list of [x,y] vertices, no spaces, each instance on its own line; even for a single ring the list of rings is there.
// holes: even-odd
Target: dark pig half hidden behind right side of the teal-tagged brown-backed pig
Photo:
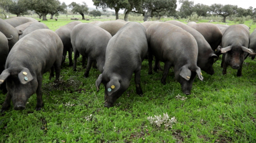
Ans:
[[[198,62],[197,65],[201,68],[202,71],[205,71],[207,74],[213,75],[213,63],[214,59],[217,58],[214,51],[211,49],[210,44],[205,40],[204,36],[200,34],[190,26],[185,25],[182,22],[178,22],[176,20],[167,21],[167,23],[171,23],[173,25],[179,26],[180,28],[184,29],[185,31],[189,32],[198,43]]]

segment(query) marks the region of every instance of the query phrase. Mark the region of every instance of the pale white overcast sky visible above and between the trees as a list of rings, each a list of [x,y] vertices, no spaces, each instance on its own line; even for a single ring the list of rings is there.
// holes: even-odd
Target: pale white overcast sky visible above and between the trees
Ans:
[[[92,0],[60,0],[60,2],[65,2],[66,5],[69,5],[71,2],[76,2],[79,4],[82,4],[82,2],[86,2],[86,4],[88,5],[88,7],[92,7],[95,8],[95,6],[93,5]],[[180,4],[179,4],[179,0],[177,1],[177,9],[180,8]],[[222,4],[222,5],[226,5],[226,4],[231,4],[231,5],[237,5],[237,7],[242,7],[242,8],[249,8],[250,6],[253,8],[256,8],[256,1],[255,0],[214,0],[214,1],[209,1],[209,0],[194,0],[194,4],[205,4],[205,5],[211,5],[211,4]],[[111,10],[114,11],[114,10]],[[123,11],[120,11],[121,13]]]

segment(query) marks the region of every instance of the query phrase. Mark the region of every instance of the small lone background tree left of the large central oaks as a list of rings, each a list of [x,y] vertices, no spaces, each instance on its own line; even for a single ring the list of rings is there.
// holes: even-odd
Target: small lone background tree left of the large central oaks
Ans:
[[[84,19],[84,14],[88,13],[89,8],[86,5],[86,2],[83,2],[83,4],[76,4],[76,2],[72,2],[69,4],[69,7],[72,8],[72,12],[74,14],[79,13]]]

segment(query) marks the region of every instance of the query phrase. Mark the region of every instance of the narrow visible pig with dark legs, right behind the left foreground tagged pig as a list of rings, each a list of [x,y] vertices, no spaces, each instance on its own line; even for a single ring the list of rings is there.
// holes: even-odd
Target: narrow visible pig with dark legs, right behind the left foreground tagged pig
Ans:
[[[59,28],[55,31],[55,33],[58,34],[58,36],[60,36],[60,39],[63,42],[63,56],[64,56],[64,59],[63,59],[62,62],[65,61],[67,51],[69,51],[69,66],[73,65],[73,62],[72,62],[73,48],[72,48],[72,44],[71,44],[70,34],[71,34],[71,31],[72,31],[73,27],[80,24],[80,23],[82,23],[82,22],[79,22],[79,21],[70,22],[67,25],[62,26],[61,28]]]

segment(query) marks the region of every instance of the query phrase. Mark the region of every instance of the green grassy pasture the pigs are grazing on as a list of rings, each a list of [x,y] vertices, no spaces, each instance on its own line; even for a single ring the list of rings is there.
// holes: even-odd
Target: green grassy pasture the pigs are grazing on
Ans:
[[[71,21],[41,22],[55,31]],[[192,94],[186,96],[174,79],[173,68],[163,86],[163,71],[148,75],[145,59],[141,72],[144,94],[136,94],[133,77],[114,107],[105,108],[104,86],[99,92],[95,87],[100,72],[92,68],[84,78],[81,57],[77,72],[66,58],[60,84],[49,80],[49,72],[43,75],[45,106],[41,111],[35,111],[33,95],[23,111],[11,105],[0,113],[0,142],[256,142],[256,62],[249,57],[245,60],[242,77],[236,77],[237,70],[230,67],[222,75],[220,63],[221,58],[214,63],[214,75],[202,71],[204,81],[196,78]],[[0,91],[0,108],[4,99]],[[163,113],[176,118],[169,130],[147,120]]]

